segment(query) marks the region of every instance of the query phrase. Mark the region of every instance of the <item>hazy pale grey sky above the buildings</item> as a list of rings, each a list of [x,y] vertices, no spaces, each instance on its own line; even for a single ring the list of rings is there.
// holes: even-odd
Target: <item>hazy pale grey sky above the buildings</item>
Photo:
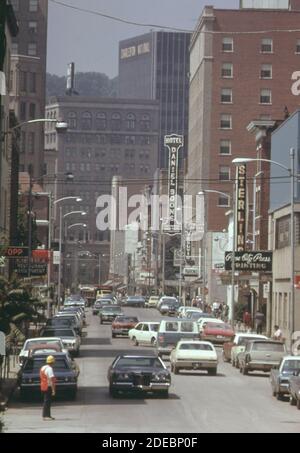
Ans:
[[[136,22],[193,30],[205,5],[238,8],[239,0],[61,0]],[[57,5],[49,0],[48,72],[64,75],[67,64],[77,71],[118,74],[118,44],[149,28],[117,23]]]

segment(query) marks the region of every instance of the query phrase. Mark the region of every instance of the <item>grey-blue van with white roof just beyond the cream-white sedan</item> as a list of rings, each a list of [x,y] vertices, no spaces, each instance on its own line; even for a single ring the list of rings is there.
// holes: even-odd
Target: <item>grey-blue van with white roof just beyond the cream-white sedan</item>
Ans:
[[[180,340],[199,340],[197,323],[182,319],[161,321],[156,343],[158,355],[170,355]]]

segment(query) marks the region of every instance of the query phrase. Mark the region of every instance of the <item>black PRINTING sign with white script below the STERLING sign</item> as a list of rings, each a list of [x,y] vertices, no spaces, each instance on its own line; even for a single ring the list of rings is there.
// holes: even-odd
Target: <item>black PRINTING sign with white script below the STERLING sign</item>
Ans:
[[[225,270],[232,270],[232,252],[225,253]],[[243,272],[272,272],[272,252],[235,252],[235,270]]]

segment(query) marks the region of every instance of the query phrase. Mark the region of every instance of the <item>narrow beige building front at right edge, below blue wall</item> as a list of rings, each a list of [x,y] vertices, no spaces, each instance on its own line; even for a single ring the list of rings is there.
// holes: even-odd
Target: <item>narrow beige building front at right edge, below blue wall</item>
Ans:
[[[295,205],[296,249],[295,277],[300,275],[300,204]],[[283,336],[290,341],[295,316],[295,331],[300,331],[300,287],[295,289],[295,313],[292,307],[291,205],[273,211],[269,217],[270,250],[273,250],[273,288],[268,302],[267,331],[280,326]],[[298,285],[299,286],[299,285]]]

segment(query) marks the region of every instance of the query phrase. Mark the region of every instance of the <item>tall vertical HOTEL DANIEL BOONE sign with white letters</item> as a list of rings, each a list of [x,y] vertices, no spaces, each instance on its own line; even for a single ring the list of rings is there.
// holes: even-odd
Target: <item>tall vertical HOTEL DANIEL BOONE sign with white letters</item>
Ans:
[[[178,172],[179,172],[179,150],[184,146],[182,135],[166,135],[165,146],[169,149],[169,206],[168,223],[164,230],[168,234],[176,234],[181,226],[177,222],[177,196],[178,196]]]

